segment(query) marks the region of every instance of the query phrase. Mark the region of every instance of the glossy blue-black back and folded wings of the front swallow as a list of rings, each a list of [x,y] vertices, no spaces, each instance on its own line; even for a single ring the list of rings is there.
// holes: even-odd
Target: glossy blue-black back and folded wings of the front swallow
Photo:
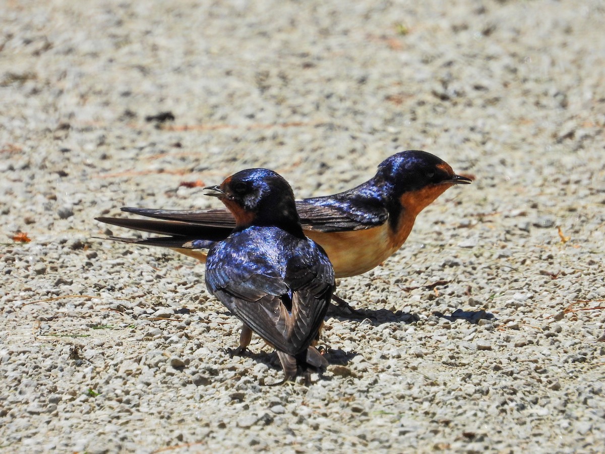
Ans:
[[[284,233],[259,237],[243,231],[219,243],[208,255],[206,285],[273,347],[297,355],[317,335],[334,272],[318,246],[294,237],[284,244]]]

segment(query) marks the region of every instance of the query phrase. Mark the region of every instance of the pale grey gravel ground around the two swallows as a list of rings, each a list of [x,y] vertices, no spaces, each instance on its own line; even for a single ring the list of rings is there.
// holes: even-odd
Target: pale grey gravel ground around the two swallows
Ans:
[[[133,3],[0,5],[2,452],[603,452],[603,1]],[[398,147],[476,180],[339,282],[308,388],[229,358],[202,265],[94,239]]]

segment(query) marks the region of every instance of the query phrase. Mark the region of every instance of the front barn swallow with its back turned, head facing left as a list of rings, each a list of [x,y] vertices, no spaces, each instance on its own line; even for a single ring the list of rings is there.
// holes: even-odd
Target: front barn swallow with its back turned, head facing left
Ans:
[[[304,235],[290,185],[272,170],[247,169],[206,189],[235,220],[229,236],[209,249],[205,275],[209,292],[244,323],[248,338],[240,349],[250,329],[256,332],[277,350],[284,381],[327,365],[312,344],[332,298],[334,270]]]

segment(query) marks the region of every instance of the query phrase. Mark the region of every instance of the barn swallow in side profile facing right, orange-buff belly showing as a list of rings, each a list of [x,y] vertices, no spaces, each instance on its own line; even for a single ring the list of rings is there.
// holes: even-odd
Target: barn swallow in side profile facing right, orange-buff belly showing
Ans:
[[[327,252],[337,278],[370,271],[407,240],[416,216],[450,186],[471,183],[448,163],[425,151],[401,151],[385,159],[374,177],[332,196],[297,200],[304,233]],[[110,237],[164,246],[204,262],[206,251],[234,229],[227,209],[122,208],[151,219],[96,218],[101,222],[168,235],[148,239]],[[339,299],[339,298],[337,298]]]

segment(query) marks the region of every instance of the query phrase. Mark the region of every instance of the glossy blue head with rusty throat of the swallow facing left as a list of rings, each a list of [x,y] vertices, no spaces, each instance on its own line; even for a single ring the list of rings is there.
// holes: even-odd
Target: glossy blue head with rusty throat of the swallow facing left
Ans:
[[[209,186],[207,196],[220,199],[232,212],[238,227],[300,225],[292,188],[269,169],[246,169]]]

